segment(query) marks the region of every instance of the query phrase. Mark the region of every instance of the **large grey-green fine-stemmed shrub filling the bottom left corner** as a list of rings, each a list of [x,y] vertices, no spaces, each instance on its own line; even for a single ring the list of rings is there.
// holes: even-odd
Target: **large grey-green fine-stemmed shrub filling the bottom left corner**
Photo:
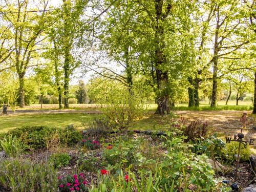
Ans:
[[[7,159],[0,163],[0,183],[13,192],[57,191],[57,173],[50,164]]]

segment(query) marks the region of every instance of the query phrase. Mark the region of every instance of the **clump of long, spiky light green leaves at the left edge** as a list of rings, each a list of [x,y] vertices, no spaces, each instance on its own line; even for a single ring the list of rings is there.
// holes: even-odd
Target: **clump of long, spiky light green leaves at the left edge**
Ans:
[[[0,144],[8,157],[17,157],[28,147],[20,139],[12,135],[5,136],[4,139],[0,140]]]

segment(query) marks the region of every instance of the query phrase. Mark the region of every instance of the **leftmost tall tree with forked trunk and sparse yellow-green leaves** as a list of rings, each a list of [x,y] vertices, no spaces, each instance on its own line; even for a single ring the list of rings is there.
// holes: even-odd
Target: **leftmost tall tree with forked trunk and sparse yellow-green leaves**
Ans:
[[[28,68],[33,67],[31,60],[38,57],[38,51],[46,37],[41,34],[52,25],[48,20],[48,0],[32,1],[5,1],[5,9],[2,10],[3,18],[10,26],[14,42],[13,61],[19,78],[19,106],[25,106],[24,100],[24,77]],[[38,5],[39,9],[31,9],[30,5]],[[34,6],[33,6],[34,7]],[[12,50],[10,50],[12,51]]]

